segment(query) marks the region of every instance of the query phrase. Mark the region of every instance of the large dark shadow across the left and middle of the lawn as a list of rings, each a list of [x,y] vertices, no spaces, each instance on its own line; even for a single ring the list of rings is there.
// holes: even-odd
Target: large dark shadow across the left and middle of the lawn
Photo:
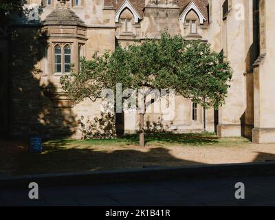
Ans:
[[[113,170],[120,168],[144,168],[150,166],[180,166],[200,164],[179,159],[166,148],[94,148],[55,142],[43,146],[43,153],[28,153],[22,148],[17,154],[13,175],[38,173],[65,173],[87,170]]]

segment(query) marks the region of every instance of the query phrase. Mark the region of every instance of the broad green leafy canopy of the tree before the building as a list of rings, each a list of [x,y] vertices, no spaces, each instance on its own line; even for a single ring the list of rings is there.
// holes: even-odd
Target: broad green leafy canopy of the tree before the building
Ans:
[[[104,88],[175,89],[203,107],[224,103],[232,78],[230,64],[223,54],[210,50],[210,44],[185,41],[181,36],[162,34],[161,39],[145,39],[128,47],[117,47],[102,56],[83,59],[79,72],[63,76],[63,89],[76,102],[100,98]]]

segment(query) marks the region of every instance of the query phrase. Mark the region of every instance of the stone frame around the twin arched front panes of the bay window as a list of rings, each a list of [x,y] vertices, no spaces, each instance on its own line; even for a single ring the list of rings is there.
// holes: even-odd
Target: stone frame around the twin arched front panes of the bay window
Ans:
[[[59,45],[61,47],[61,72],[55,72],[55,48]],[[63,76],[64,74],[69,74],[69,72],[65,72],[65,47],[69,45],[71,49],[71,64],[74,63],[74,42],[53,42],[52,43],[52,76]]]

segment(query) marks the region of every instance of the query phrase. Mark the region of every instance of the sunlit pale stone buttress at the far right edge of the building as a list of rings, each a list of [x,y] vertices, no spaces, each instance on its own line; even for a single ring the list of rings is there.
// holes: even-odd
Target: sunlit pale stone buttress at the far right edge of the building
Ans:
[[[260,56],[254,65],[253,142],[275,142],[275,2],[260,0]]]

